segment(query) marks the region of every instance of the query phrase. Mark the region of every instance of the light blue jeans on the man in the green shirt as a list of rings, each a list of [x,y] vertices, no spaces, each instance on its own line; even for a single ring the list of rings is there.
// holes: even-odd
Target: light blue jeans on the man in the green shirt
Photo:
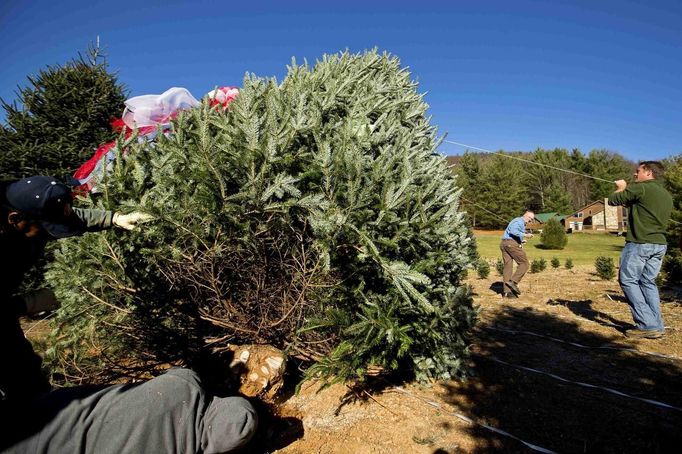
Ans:
[[[661,270],[666,249],[665,244],[628,242],[620,256],[618,282],[639,329],[664,329],[656,276]]]

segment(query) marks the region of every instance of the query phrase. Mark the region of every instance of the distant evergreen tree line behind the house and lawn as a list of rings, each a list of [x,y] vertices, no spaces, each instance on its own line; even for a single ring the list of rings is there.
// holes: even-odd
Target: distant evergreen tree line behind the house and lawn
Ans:
[[[507,156],[467,151],[461,157],[450,157],[457,182],[463,188],[462,205],[474,228],[504,228],[525,209],[571,214],[614,190],[612,183],[546,166],[614,181],[630,178],[636,165],[607,150],[584,154],[578,149],[569,152],[563,148],[539,148],[533,152],[501,153]]]

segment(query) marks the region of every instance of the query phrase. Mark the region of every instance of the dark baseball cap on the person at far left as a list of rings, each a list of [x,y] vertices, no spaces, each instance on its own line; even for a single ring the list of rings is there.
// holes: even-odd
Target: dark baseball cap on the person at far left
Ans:
[[[11,183],[5,190],[10,207],[40,221],[55,238],[80,233],[75,216],[65,216],[65,206],[73,202],[71,189],[53,177],[33,176]]]

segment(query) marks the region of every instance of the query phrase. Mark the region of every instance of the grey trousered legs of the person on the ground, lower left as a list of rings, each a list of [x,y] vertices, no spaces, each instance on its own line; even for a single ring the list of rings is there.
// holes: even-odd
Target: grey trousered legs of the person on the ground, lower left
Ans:
[[[139,384],[53,391],[12,421],[12,453],[232,452],[258,417],[242,397],[207,395],[195,372],[170,369]]]

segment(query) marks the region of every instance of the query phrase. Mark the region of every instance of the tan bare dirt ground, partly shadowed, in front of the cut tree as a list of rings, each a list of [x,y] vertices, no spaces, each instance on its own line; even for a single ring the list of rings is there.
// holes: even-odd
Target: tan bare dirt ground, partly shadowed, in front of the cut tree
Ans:
[[[631,316],[617,282],[599,280],[592,267],[528,274],[518,300],[502,299],[496,280],[468,279],[481,321],[467,382],[385,382],[367,391],[336,385],[320,392],[307,383],[281,402],[268,447],[254,449],[533,452],[526,442],[570,453],[679,452],[679,291],[662,295],[664,339],[629,340],[622,331]]]

